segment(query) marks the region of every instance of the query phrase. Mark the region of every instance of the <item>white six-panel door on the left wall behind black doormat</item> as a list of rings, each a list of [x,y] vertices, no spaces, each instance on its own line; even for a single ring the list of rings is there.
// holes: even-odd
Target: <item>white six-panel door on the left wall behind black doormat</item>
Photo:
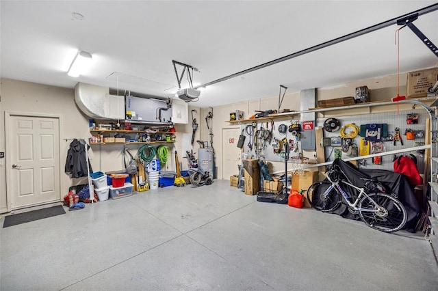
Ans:
[[[56,117],[9,115],[8,195],[12,209],[60,201]]]

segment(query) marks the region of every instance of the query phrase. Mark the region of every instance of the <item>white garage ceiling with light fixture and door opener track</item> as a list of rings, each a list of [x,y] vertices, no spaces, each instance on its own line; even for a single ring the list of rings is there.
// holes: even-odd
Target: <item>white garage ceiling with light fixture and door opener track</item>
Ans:
[[[173,96],[172,59],[204,84],[437,1],[0,1],[1,77],[73,88],[77,82]],[[83,20],[73,18],[77,12]],[[438,45],[438,11],[414,24]],[[196,106],[278,96],[397,72],[393,25],[207,87]],[[66,74],[77,50],[93,64]],[[409,29],[400,31],[400,72],[436,66]],[[178,67],[181,73],[181,67]],[[184,79],[186,80],[186,79]],[[183,81],[182,87],[187,87]]]

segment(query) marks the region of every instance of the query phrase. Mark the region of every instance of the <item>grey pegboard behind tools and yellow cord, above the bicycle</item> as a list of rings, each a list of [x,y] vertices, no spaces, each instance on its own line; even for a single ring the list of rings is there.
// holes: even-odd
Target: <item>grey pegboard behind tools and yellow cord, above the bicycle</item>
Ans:
[[[417,115],[417,123],[416,124],[407,124],[407,115]],[[361,126],[362,124],[387,124],[387,133],[395,137],[395,129],[400,128],[400,138],[402,139],[403,145],[400,141],[383,141],[383,152],[389,152],[393,150],[402,150],[403,148],[413,148],[415,146],[423,146],[424,145],[424,137],[426,133],[424,130],[426,129],[427,118],[429,117],[428,113],[424,111],[424,109],[413,109],[409,111],[396,111],[394,112],[385,112],[385,113],[373,113],[373,114],[363,114],[363,115],[354,115],[354,116],[339,116],[335,117],[340,122],[340,126],[346,126],[348,124],[356,124],[357,126]],[[318,118],[318,126],[324,128],[324,122],[327,118]],[[338,137],[340,135],[340,129],[334,132],[328,132],[324,130],[324,137]],[[348,132],[349,128],[346,128]],[[406,130],[414,130],[417,131],[417,136],[415,139],[407,139],[407,135],[405,135]],[[423,137],[418,130],[423,130]],[[317,141],[320,142],[320,141]],[[358,150],[360,147],[361,136],[357,135],[353,139],[353,143],[358,146]],[[326,154],[326,161],[333,161],[335,159],[335,148],[328,146],[324,148]],[[360,151],[360,150],[359,150]],[[342,151],[341,151],[342,152]],[[370,153],[371,149],[370,149]],[[422,173],[424,171],[424,150],[423,151],[413,151],[413,152],[404,152],[401,153],[404,155],[414,154],[417,157],[417,167]],[[401,155],[399,154],[399,155]],[[347,155],[342,152],[342,158],[351,158],[352,155]],[[358,163],[359,167],[366,169],[385,169],[385,170],[394,170],[393,163],[394,155],[387,155],[381,157],[381,164],[376,165],[373,163],[372,158],[365,158]]]

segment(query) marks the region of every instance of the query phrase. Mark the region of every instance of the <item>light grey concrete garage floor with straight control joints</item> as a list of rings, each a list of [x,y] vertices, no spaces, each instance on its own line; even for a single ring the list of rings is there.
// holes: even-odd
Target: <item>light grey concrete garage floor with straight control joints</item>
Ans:
[[[1,228],[0,290],[438,289],[421,232],[257,202],[226,180],[66,212]]]

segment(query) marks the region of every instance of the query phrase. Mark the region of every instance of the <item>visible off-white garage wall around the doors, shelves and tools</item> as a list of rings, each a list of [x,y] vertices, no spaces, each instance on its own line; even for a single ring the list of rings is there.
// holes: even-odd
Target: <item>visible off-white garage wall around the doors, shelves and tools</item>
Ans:
[[[407,74],[400,76],[400,95],[406,93],[406,78]],[[396,75],[387,77],[372,78],[363,81],[346,83],[333,87],[318,88],[318,100],[326,100],[331,98],[341,98],[346,96],[354,96],[355,87],[367,85],[371,92],[372,101],[389,100],[396,96],[397,93],[397,78]],[[61,87],[53,87],[49,85],[42,85],[36,83],[28,83],[24,81],[16,81],[10,79],[1,79],[1,102],[0,102],[0,152],[5,151],[5,111],[18,111],[23,113],[48,113],[62,115],[61,124],[61,160],[64,165],[66,152],[68,150],[69,142],[64,139],[69,138],[83,138],[88,139],[90,131],[88,130],[88,117],[83,115],[77,108],[74,101],[74,90]],[[208,98],[208,94],[203,94],[201,98]],[[238,96],[236,96],[237,100]],[[278,96],[270,96],[257,100],[250,100],[245,102],[236,102],[231,105],[224,105],[214,107],[214,116],[212,126],[214,131],[214,148],[216,150],[216,167],[218,167],[218,179],[227,179],[229,177],[222,177],[222,148],[221,148],[221,132],[222,128],[230,128],[238,125],[231,125],[229,120],[229,113],[235,110],[244,111],[245,118],[254,114],[256,110],[276,109]],[[196,132],[194,152],[197,152],[198,145],[196,140],[209,141],[209,132],[205,123],[205,116],[211,110],[209,108],[200,109],[196,107],[196,103],[192,102],[189,106],[189,123],[177,124],[177,143],[175,148],[179,153],[179,161],[183,163],[183,169],[187,169],[187,161],[185,151],[189,150],[187,145],[190,145],[192,137],[192,118],[191,110],[196,109],[194,113],[199,127]],[[300,109],[300,92],[287,92],[281,109]],[[114,148],[113,148],[114,147]],[[131,146],[130,146],[131,147]],[[90,158],[94,170],[111,171],[120,169],[122,162],[120,159],[120,146],[93,146],[90,151]],[[311,153],[310,153],[311,154]],[[8,153],[5,153],[8,155]],[[173,156],[173,153],[172,153]],[[3,160],[4,161],[4,160]],[[3,162],[4,163],[4,162]],[[273,171],[283,170],[283,163],[273,163]],[[5,166],[0,167],[0,212],[6,209],[6,188],[5,188]],[[66,174],[62,174],[61,189],[68,191],[68,187],[77,181],[72,181]],[[64,194],[64,193],[62,193]]]

